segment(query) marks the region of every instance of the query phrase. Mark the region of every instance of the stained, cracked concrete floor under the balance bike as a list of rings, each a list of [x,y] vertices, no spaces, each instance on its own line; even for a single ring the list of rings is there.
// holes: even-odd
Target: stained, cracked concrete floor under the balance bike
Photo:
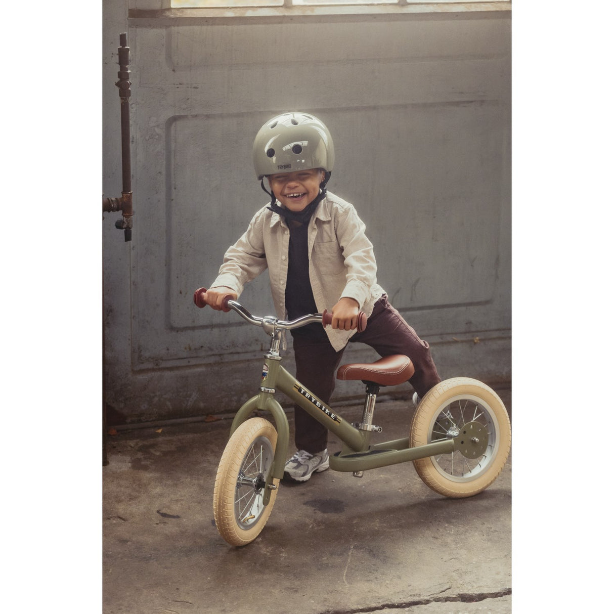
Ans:
[[[511,390],[497,392],[511,414]],[[361,410],[341,413],[357,420]],[[378,403],[377,437],[406,436],[412,412],[411,402]],[[110,438],[104,614],[511,612],[511,456],[469,499],[441,497],[409,464],[284,481],[262,534],[233,548],[212,511],[229,428],[195,422]],[[340,445],[333,438],[328,449]]]

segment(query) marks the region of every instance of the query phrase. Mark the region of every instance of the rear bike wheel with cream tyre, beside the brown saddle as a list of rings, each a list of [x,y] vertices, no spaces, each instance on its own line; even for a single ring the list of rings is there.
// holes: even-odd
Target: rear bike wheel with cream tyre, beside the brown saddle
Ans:
[[[461,448],[414,461],[416,472],[433,491],[471,497],[488,488],[510,453],[511,426],[499,395],[477,379],[446,379],[424,395],[411,423],[412,447],[456,438],[471,429],[480,432],[480,438],[488,435],[488,444],[477,456],[467,456]]]

